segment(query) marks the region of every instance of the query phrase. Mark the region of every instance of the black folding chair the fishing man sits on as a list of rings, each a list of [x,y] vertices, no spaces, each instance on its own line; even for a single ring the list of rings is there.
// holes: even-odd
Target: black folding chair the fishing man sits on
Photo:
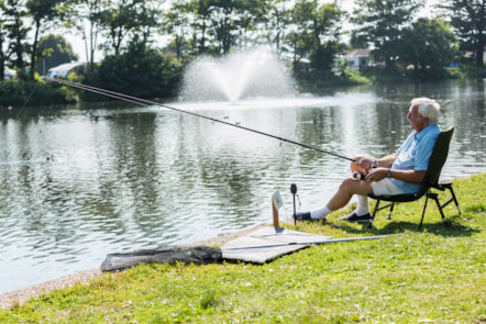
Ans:
[[[388,219],[391,219],[391,213],[394,211],[395,204],[399,202],[412,202],[423,195],[426,197],[426,204],[423,205],[422,219],[420,220],[419,230],[422,228],[423,216],[426,215],[427,203],[430,199],[433,199],[438,205],[438,209],[442,216],[442,222],[446,225],[448,222],[444,216],[443,208],[454,201],[459,214],[461,214],[461,209],[459,208],[457,199],[452,189],[452,181],[439,182],[439,177],[441,175],[442,167],[445,164],[449,154],[449,145],[451,143],[452,134],[454,133],[454,127],[443,131],[439,134],[437,142],[433,146],[432,155],[429,161],[429,168],[427,169],[426,177],[423,178],[422,187],[418,193],[406,193],[406,194],[394,194],[394,195],[375,195],[373,193],[368,194],[369,198],[376,199],[376,204],[373,211],[372,221],[369,222],[369,227],[375,220],[376,213],[380,210],[389,208]],[[451,198],[444,203],[439,202],[439,193],[432,192],[431,189],[438,189],[441,191],[449,190],[451,192]],[[388,202],[387,204],[380,206],[382,201]]]

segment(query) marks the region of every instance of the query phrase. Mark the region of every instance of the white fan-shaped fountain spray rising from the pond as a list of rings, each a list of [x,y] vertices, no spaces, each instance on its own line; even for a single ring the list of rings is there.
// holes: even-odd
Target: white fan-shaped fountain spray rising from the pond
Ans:
[[[295,93],[290,69],[267,48],[238,52],[225,57],[203,56],[184,75],[184,101],[230,101],[281,98]]]

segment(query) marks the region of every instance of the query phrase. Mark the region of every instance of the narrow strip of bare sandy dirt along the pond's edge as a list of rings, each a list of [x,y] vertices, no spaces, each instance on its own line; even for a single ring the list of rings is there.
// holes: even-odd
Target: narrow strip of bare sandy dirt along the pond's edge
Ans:
[[[286,221],[280,221],[285,223]],[[244,228],[234,233],[223,234],[221,236],[198,241],[191,244],[185,244],[181,246],[196,246],[196,245],[207,245],[207,246],[222,246],[227,242],[243,236],[250,232],[253,232],[259,227],[267,226],[270,224],[262,224]],[[80,271],[67,276],[59,277],[57,279],[40,282],[33,286],[21,288],[18,290],[12,290],[8,292],[0,293],[0,308],[9,310],[12,306],[20,305],[31,298],[40,297],[42,294],[48,293],[52,290],[60,290],[64,288],[73,287],[76,283],[88,284],[93,278],[101,278],[103,275],[111,275],[111,272],[101,272],[100,268],[89,269],[86,271]]]

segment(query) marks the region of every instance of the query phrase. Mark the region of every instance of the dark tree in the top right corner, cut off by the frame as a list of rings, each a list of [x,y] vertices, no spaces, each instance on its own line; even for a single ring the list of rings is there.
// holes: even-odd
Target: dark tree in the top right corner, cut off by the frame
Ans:
[[[484,66],[486,46],[486,0],[452,0],[439,5],[451,15],[463,49],[475,52],[476,66]]]

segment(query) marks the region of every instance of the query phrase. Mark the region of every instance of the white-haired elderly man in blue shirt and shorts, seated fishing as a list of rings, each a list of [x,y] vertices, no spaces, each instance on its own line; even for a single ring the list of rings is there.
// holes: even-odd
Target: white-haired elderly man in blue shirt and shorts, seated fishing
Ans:
[[[357,208],[340,220],[349,222],[369,222],[367,194],[393,195],[416,193],[426,176],[433,145],[440,134],[437,125],[440,105],[429,98],[416,98],[411,101],[407,119],[413,130],[396,154],[378,159],[365,156],[355,157],[351,170],[364,175],[364,180],[344,179],[338,192],[327,205],[310,212],[296,213],[298,221],[325,220],[333,211],[345,206],[353,194],[357,194]]]

